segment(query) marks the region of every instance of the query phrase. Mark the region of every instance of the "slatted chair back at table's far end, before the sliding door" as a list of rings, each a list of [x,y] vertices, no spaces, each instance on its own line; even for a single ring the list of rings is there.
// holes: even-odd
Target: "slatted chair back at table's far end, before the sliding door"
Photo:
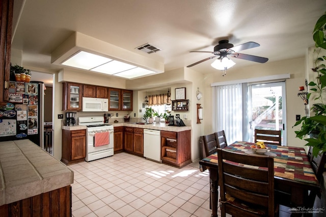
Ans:
[[[255,129],[255,143],[259,141],[270,145],[282,145],[281,130]]]

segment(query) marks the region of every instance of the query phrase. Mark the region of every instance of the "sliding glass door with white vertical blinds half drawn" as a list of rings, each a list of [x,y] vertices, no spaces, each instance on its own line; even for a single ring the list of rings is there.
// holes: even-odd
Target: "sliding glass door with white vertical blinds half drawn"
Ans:
[[[229,144],[254,142],[255,128],[282,130],[282,144],[286,144],[285,82],[233,84],[214,90],[213,128],[225,130]]]

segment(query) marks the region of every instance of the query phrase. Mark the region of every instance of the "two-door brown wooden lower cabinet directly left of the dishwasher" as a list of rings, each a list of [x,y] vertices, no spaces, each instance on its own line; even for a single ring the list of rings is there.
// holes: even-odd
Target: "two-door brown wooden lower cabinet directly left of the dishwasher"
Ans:
[[[124,128],[124,150],[132,154],[144,155],[144,129]]]

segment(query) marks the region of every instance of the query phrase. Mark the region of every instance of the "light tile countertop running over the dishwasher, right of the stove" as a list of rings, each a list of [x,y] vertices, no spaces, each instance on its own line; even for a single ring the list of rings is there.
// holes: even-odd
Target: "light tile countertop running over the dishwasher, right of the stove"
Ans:
[[[180,132],[185,130],[191,130],[191,126],[169,126],[166,123],[159,123],[159,124],[133,124],[128,122],[121,122],[121,123],[110,123],[114,127],[116,126],[129,126],[129,127],[138,127],[144,129],[156,129],[156,130],[165,130],[165,131],[172,131],[172,132]]]

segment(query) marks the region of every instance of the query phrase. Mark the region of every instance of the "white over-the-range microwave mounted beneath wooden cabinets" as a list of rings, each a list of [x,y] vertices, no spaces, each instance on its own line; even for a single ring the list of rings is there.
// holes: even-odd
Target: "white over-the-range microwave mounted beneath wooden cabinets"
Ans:
[[[83,97],[83,112],[108,112],[108,99]]]

